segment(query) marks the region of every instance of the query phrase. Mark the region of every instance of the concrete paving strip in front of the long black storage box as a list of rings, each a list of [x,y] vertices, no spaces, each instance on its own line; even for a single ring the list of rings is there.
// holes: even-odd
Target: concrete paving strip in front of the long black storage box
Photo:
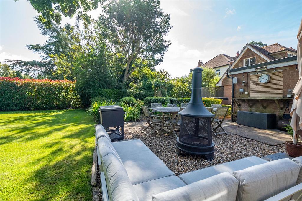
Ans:
[[[232,121],[224,121],[222,127],[228,133],[233,133],[235,135],[246,137],[273,146],[283,144],[286,140],[292,140],[289,134],[277,129],[263,130],[260,128],[238,125],[236,122]]]

